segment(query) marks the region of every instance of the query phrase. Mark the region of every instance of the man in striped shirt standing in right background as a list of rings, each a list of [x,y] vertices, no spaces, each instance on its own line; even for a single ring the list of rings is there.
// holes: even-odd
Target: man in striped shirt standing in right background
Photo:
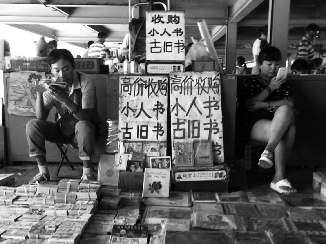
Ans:
[[[308,63],[314,58],[315,39],[319,33],[317,24],[307,26],[306,35],[302,38],[298,46],[297,59],[304,59]]]

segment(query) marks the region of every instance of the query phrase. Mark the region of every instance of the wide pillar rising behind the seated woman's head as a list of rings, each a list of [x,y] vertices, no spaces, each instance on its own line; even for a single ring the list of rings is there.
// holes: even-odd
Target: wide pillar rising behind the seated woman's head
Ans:
[[[271,23],[271,45],[281,51],[281,66],[285,67],[288,58],[289,17],[291,0],[270,0],[269,23]]]

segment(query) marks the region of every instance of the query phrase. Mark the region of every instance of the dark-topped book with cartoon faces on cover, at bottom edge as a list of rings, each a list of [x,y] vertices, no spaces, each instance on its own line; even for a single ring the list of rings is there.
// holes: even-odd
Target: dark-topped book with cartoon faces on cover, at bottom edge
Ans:
[[[147,226],[113,225],[110,244],[138,243],[147,244]]]

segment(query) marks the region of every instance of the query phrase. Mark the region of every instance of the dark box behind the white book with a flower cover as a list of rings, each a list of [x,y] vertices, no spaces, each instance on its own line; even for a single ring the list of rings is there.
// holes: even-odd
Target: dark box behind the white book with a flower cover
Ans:
[[[118,188],[121,189],[122,192],[142,192],[144,183],[143,172],[120,171],[118,177]]]

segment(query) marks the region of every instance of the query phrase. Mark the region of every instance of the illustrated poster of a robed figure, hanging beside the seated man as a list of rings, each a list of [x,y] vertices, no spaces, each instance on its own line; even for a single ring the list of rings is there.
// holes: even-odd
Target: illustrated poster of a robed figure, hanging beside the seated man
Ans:
[[[34,84],[45,78],[45,72],[11,72],[8,84],[8,114],[35,116],[36,90]]]

